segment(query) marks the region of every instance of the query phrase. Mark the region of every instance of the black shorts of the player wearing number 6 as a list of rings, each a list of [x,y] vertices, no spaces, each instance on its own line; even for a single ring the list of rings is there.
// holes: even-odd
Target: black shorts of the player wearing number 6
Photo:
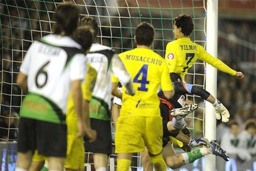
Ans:
[[[43,156],[66,157],[67,125],[21,117],[18,151],[35,149]]]

